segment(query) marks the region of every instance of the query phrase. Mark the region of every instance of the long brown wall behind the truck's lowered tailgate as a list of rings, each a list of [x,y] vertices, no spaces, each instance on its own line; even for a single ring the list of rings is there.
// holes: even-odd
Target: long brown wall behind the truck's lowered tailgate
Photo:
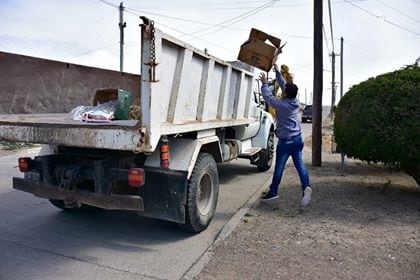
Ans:
[[[69,112],[103,88],[140,101],[140,75],[0,52],[0,114]]]

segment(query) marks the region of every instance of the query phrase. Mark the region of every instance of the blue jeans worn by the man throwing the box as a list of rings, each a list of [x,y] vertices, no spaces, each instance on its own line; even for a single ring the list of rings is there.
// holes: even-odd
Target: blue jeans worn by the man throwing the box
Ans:
[[[302,136],[298,135],[290,139],[279,139],[276,149],[276,165],[274,168],[273,181],[270,186],[270,192],[278,194],[283,171],[287,159],[292,156],[293,163],[299,174],[302,190],[309,186],[309,175],[302,159],[303,141]]]

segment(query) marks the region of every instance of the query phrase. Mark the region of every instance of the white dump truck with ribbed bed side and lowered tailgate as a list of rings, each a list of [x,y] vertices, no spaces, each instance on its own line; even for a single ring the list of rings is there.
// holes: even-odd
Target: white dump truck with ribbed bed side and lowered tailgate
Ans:
[[[0,115],[0,140],[46,144],[20,158],[13,188],[62,209],[131,210],[190,232],[207,228],[218,199],[217,163],[270,168],[274,124],[253,68],[229,63],[143,19],[138,119],[91,123],[67,114]],[[245,65],[247,66],[247,65]]]

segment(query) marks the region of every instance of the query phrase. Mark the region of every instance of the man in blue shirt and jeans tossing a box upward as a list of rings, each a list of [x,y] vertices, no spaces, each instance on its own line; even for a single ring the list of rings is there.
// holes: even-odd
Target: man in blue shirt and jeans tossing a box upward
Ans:
[[[299,100],[296,98],[298,87],[292,82],[286,83],[279,71],[277,64],[274,65],[276,80],[282,89],[282,98],[274,97],[267,85],[267,77],[260,74],[262,83],[261,92],[265,102],[276,109],[276,136],[279,139],[276,149],[276,163],[270,190],[262,197],[263,201],[270,201],[279,197],[278,190],[286,166],[287,159],[292,156],[293,163],[299,174],[302,184],[302,205],[311,201],[312,188],[309,185],[309,175],[302,159],[303,140],[299,112]]]

